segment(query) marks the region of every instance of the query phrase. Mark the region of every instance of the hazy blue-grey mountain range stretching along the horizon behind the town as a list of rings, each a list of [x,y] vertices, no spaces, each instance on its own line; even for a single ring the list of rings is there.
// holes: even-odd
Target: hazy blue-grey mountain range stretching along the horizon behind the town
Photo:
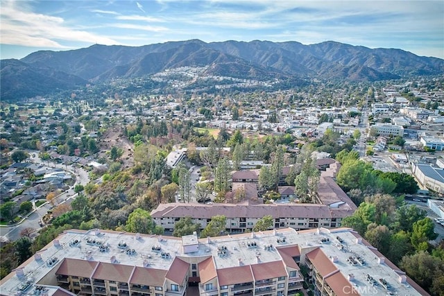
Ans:
[[[95,44],[71,51],[37,51],[1,60],[1,98],[45,95],[114,78],[137,78],[178,67],[256,80],[325,78],[376,81],[444,73],[444,60],[400,49],[369,49],[339,42],[211,42],[187,40],[145,46]]]

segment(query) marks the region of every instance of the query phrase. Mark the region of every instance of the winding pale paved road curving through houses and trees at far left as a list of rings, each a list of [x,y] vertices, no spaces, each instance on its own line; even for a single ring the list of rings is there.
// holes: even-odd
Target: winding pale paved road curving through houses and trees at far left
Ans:
[[[30,161],[34,162],[35,164],[44,164],[53,168],[62,168],[63,170],[69,171],[70,173],[74,174],[76,176],[76,182],[74,186],[76,184],[86,185],[89,182],[88,172],[85,171],[83,168],[77,168],[72,165],[67,166],[65,164],[55,164],[53,162],[42,161],[42,159],[38,157],[38,153],[31,153],[31,155],[33,156],[31,156]],[[77,194],[74,193],[74,186],[71,186],[70,189],[58,195],[54,199],[54,204],[70,204],[72,199],[77,196]],[[0,227],[0,235],[6,236],[10,241],[17,241],[17,239],[20,238],[20,232],[22,232],[22,229],[33,228],[37,231],[41,228],[39,226],[39,220],[42,218],[42,216],[44,216],[44,214],[48,212],[49,209],[51,209],[50,204],[43,204],[26,219],[24,219],[19,225],[12,227]]]

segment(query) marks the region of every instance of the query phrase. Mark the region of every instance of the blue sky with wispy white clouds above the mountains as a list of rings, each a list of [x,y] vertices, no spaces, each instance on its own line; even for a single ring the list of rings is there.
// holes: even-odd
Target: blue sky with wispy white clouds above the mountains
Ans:
[[[0,57],[92,44],[328,40],[444,58],[444,1],[0,0]]]

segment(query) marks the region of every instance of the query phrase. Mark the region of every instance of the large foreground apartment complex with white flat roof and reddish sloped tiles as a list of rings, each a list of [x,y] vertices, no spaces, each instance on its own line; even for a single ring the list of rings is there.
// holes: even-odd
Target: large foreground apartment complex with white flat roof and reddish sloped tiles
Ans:
[[[0,291],[274,296],[296,294],[304,280],[315,295],[427,295],[352,229],[325,228],[200,239],[69,230],[2,279]]]

